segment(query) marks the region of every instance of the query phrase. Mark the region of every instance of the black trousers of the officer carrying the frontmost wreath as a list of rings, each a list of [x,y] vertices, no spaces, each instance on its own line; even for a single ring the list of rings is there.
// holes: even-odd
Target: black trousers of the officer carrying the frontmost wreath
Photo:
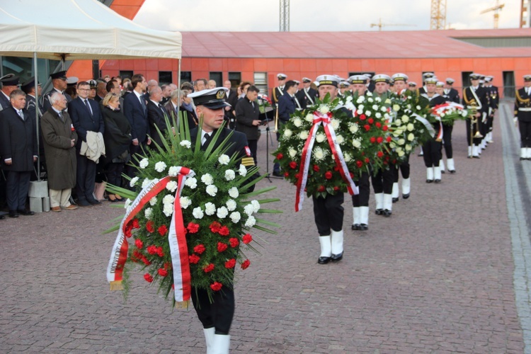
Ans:
[[[197,294],[197,296],[196,296]],[[234,290],[222,287],[214,292],[212,304],[207,290],[192,287],[192,302],[203,328],[215,328],[216,334],[229,334],[234,317]]]

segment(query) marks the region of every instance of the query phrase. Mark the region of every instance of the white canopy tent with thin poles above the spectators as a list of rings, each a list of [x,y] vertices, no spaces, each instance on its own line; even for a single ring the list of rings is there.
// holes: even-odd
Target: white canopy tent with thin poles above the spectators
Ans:
[[[179,59],[181,86],[181,33],[138,25],[96,0],[2,1],[0,33],[0,55],[33,57],[35,85],[37,58],[64,62],[149,57]],[[37,175],[40,180],[40,171]]]

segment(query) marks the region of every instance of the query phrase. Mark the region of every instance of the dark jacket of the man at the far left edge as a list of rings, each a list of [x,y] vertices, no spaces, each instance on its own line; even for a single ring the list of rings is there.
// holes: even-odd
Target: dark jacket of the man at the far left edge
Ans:
[[[33,156],[37,156],[35,119],[27,110],[23,113],[24,120],[11,106],[0,112],[1,166],[6,171],[33,171]],[[12,164],[6,165],[4,159],[12,159]]]

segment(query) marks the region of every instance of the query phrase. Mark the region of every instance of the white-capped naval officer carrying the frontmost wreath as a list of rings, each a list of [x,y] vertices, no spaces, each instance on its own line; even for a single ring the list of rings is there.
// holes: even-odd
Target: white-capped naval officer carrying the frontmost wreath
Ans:
[[[203,118],[202,127],[190,130],[190,138],[193,145],[196,139],[201,139],[201,149],[206,149],[213,134],[222,126],[224,108],[228,105],[225,101],[227,91],[228,89],[224,87],[217,87],[190,93],[189,96],[193,98],[197,115]],[[243,133],[224,127],[222,132],[220,132],[219,139],[217,139],[217,144],[220,144],[229,135],[231,135],[229,144],[232,144],[232,146],[225,154],[229,156],[236,154],[241,164],[248,169],[252,168],[254,161]],[[230,347],[229,330],[235,306],[232,284],[229,284],[229,286],[223,285],[221,291],[213,294],[212,300],[209,299],[206,290],[193,288],[192,302],[205,332],[207,352],[214,353],[213,350],[216,350],[216,353],[228,354]]]

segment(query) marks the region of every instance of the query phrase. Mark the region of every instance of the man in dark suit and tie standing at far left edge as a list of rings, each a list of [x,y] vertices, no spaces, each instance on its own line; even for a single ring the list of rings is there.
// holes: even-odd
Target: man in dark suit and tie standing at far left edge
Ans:
[[[33,215],[25,208],[30,175],[37,161],[37,133],[35,120],[25,110],[25,93],[13,90],[11,106],[0,113],[0,155],[2,169],[8,171],[6,197],[9,217]]]

